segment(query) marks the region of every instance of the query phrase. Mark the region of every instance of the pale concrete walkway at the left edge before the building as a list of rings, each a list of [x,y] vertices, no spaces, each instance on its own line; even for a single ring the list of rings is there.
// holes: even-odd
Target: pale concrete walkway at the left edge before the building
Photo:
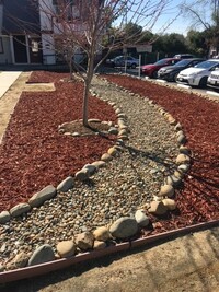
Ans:
[[[3,71],[0,73],[0,98],[11,87],[22,71]]]

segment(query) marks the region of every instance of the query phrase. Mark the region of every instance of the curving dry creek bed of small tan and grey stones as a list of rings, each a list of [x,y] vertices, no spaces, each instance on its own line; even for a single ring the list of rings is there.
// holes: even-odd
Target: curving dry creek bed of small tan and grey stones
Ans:
[[[71,189],[0,225],[1,271],[104,248],[146,227],[150,211],[175,209],[174,200],[166,200],[168,207],[160,202],[168,197],[161,186],[168,184],[173,197],[188,168],[187,155],[176,162],[180,152],[187,154],[181,125],[147,98],[106,81],[94,79],[91,91],[114,106],[125,131],[107,163],[89,179],[76,175]]]

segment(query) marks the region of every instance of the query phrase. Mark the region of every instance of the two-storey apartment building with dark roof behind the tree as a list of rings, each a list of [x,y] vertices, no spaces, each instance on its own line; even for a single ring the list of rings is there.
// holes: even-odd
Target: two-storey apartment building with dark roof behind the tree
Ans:
[[[79,17],[74,1],[66,0],[67,16]],[[0,0],[0,63],[56,65],[57,35],[61,34],[55,15],[59,0]],[[77,55],[77,54],[76,54]],[[78,51],[78,59],[82,58]]]

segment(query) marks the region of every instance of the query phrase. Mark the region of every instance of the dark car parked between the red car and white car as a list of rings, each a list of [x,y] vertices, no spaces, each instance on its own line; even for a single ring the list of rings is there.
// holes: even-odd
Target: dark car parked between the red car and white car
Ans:
[[[176,81],[177,74],[189,67],[194,67],[195,65],[203,62],[205,59],[193,58],[193,59],[183,59],[176,62],[173,66],[166,66],[161,68],[158,71],[158,78],[166,80],[166,81]]]

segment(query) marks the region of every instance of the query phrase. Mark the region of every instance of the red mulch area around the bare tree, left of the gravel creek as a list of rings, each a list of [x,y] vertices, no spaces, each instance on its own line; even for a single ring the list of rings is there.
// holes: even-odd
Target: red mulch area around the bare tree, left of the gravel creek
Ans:
[[[100,160],[115,137],[66,137],[58,126],[82,118],[83,83],[68,74],[33,72],[31,82],[55,81],[56,92],[23,92],[0,145],[0,211],[26,201],[48,184],[57,186],[84,164]],[[89,117],[116,121],[113,108],[90,96]]]

